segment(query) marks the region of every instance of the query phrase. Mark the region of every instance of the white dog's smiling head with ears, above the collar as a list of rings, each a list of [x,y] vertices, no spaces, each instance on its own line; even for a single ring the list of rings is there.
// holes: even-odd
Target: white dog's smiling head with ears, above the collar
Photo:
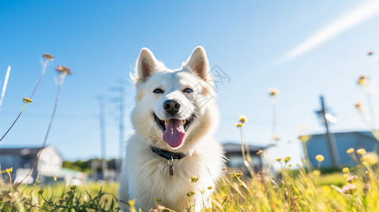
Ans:
[[[159,148],[190,152],[218,121],[208,59],[197,47],[181,69],[167,69],[149,49],[137,59],[136,133]]]

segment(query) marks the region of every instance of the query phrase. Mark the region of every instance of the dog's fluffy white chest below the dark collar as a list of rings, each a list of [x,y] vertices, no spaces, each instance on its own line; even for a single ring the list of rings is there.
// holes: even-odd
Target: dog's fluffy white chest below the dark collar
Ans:
[[[132,177],[134,182],[130,182],[131,189],[135,191],[133,198],[145,199],[151,204],[160,199],[165,206],[186,208],[189,192],[199,193],[215,186],[206,163],[198,156],[174,160],[175,171],[172,176],[169,175],[168,160],[157,155],[146,159],[131,170],[136,175]],[[191,181],[192,177],[197,177],[198,180]]]

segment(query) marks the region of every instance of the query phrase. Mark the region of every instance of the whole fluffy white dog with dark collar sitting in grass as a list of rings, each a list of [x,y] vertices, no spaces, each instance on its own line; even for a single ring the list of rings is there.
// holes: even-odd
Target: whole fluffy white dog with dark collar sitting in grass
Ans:
[[[157,199],[175,211],[211,206],[210,194],[224,166],[222,146],[213,139],[218,110],[212,80],[203,47],[175,70],[142,49],[135,74],[135,134],[126,146],[121,201],[134,199],[142,211],[156,208]]]

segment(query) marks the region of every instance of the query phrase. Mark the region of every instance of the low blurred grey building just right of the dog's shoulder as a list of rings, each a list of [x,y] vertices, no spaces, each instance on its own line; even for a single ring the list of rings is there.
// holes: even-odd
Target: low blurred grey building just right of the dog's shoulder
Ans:
[[[241,143],[224,143],[222,146],[225,151],[225,156],[229,160],[227,161],[227,166],[244,169]],[[248,145],[247,148],[249,148],[249,152],[245,149],[245,153],[249,153],[251,155],[254,169],[259,170],[260,167],[263,167],[263,161],[261,159],[261,155],[257,155],[256,153],[260,150],[263,151],[266,147]]]

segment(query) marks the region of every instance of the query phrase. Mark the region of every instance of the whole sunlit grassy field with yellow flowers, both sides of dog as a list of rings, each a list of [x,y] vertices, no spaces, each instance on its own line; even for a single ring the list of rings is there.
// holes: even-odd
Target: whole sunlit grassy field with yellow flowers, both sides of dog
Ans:
[[[361,161],[357,167],[326,175],[319,170],[305,170],[302,165],[290,169],[289,157],[277,158],[282,165],[278,173],[281,177],[268,172],[252,173],[252,178],[240,172],[229,173],[213,194],[213,208],[204,211],[375,211],[379,208],[378,158],[351,154]],[[117,187],[117,183],[86,183],[84,187],[57,183],[14,188],[4,181],[0,211],[118,211]],[[189,192],[183,198],[192,195]],[[128,204],[132,207],[134,202]],[[157,200],[157,211],[169,209],[159,206]]]

